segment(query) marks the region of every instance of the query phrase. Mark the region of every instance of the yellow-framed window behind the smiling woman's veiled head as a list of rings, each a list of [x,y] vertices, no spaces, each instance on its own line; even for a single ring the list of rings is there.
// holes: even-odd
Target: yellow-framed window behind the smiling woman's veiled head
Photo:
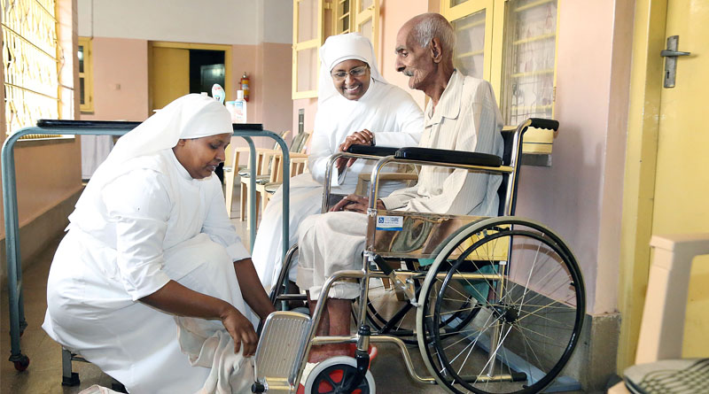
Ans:
[[[378,29],[379,0],[293,0],[292,98],[317,97],[319,50],[327,36],[359,32],[376,54]]]

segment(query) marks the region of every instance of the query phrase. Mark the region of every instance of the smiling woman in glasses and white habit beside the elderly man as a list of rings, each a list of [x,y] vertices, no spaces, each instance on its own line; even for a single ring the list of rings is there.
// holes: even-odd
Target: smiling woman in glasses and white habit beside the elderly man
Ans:
[[[320,80],[315,130],[308,157],[309,174],[290,185],[289,247],[298,242],[297,230],[308,215],[320,212],[328,160],[351,143],[378,146],[416,146],[424,116],[409,93],[386,82],[377,68],[371,42],[359,33],[332,35],[320,49]],[[333,170],[331,193],[354,192],[359,174],[370,173],[372,162],[340,160]],[[388,171],[396,171],[394,166]],[[387,196],[403,182],[384,182]],[[265,289],[276,282],[283,254],[283,189],[271,197],[253,244],[253,265]],[[291,280],[297,265],[293,263]]]

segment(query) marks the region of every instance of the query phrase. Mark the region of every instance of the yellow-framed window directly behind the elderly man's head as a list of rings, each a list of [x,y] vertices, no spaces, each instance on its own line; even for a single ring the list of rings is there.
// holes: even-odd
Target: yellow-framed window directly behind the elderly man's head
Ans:
[[[440,9],[456,30],[456,68],[492,83],[506,124],[552,117],[557,0],[442,0]]]

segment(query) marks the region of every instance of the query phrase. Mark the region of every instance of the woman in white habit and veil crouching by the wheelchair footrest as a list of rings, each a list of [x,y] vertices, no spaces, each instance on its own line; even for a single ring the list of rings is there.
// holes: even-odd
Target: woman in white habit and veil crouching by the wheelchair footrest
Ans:
[[[69,216],[43,328],[131,393],[244,392],[273,307],[214,168],[232,134],[188,95],[121,137]]]

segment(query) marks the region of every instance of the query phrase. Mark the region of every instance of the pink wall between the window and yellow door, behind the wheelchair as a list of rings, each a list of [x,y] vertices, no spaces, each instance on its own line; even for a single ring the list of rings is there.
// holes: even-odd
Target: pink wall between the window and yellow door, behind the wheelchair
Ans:
[[[609,251],[608,243],[619,237],[613,241],[606,236],[601,244],[600,234],[613,234],[620,227],[622,117],[627,112],[627,100],[609,105],[611,81],[615,76],[620,89],[616,94],[622,95],[623,88],[627,92],[627,75],[612,72],[620,73],[629,64],[627,50],[618,53],[618,65],[613,67],[613,29],[614,23],[632,26],[632,10],[615,19],[612,0],[559,3],[556,118],[561,126],[552,166],[522,167],[517,213],[540,220],[570,243],[586,282],[587,312],[607,313],[615,310],[619,249],[606,253],[603,261],[599,249]],[[631,36],[616,39],[627,46]],[[596,297],[601,299],[597,305]]]

